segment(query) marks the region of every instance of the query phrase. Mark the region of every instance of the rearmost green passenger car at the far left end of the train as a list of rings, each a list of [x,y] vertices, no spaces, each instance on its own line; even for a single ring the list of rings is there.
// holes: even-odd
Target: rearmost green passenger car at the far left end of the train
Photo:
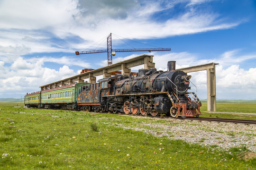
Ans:
[[[40,102],[41,102],[41,92],[35,92],[35,93],[30,93],[26,94],[24,98],[24,104],[26,107],[38,107]]]

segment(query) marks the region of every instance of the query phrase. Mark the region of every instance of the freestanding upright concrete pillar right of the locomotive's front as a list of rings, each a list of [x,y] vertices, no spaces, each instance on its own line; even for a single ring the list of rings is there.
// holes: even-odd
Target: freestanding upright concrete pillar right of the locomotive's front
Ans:
[[[207,69],[207,110],[216,111],[216,75],[214,68]]]

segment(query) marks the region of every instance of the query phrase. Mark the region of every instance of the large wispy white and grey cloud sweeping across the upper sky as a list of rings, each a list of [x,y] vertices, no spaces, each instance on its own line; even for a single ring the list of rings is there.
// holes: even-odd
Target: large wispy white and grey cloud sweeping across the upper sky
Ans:
[[[2,0],[0,45],[26,46],[29,52],[73,52],[113,32],[126,38],[148,39],[228,29],[242,21],[219,19],[219,14],[196,10],[208,0]],[[184,6],[183,13],[159,21],[158,12]],[[136,31],[135,31],[136,30]],[[79,41],[72,41],[73,39]]]

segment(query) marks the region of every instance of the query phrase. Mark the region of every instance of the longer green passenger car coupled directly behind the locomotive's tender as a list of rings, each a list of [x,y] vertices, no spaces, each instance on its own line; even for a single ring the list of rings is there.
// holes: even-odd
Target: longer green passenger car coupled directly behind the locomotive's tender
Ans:
[[[80,87],[89,83],[64,85],[41,92],[40,107],[45,109],[74,109],[77,106],[77,96]]]

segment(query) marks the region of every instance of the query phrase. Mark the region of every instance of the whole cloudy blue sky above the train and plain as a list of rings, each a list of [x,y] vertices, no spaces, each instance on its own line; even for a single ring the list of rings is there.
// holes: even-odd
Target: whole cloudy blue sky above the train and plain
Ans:
[[[215,62],[217,99],[256,98],[255,0],[0,0],[0,23],[0,98],[106,66],[107,53],[74,51],[104,50],[110,33],[113,49],[172,48],[119,52],[113,63],[141,54],[163,70],[169,60]],[[206,99],[206,72],[191,75]]]

